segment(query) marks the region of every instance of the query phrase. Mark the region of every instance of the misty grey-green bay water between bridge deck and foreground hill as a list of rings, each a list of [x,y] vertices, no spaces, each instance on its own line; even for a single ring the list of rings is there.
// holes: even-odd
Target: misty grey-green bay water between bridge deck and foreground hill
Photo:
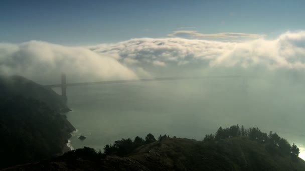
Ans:
[[[67,116],[78,130],[71,145],[103,150],[114,140],[147,133],[201,140],[219,126],[243,124],[277,132],[296,143],[305,158],[302,85],[256,77],[68,87],[73,111]]]

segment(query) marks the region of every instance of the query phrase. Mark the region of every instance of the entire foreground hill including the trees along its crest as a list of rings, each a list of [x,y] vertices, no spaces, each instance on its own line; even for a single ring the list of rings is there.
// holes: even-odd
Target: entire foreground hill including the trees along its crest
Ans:
[[[8,170],[305,170],[305,161],[292,152],[295,145],[284,152],[288,142],[275,133],[265,137],[258,128],[243,129],[219,128],[202,141],[168,135],[156,140],[149,133],[145,138],[116,140],[105,146],[104,153],[84,147]]]

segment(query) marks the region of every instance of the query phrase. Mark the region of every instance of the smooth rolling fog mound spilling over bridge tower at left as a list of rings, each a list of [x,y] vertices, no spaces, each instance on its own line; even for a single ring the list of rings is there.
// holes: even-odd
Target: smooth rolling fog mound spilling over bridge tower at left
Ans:
[[[133,71],[114,57],[100,56],[83,47],[42,41],[0,44],[0,71],[40,82],[58,82],[61,72],[69,75],[69,81],[136,78]]]

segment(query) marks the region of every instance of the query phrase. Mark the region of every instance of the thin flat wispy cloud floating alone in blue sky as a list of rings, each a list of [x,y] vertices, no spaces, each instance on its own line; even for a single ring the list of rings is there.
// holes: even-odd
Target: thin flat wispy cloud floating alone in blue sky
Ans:
[[[184,38],[259,38],[264,36],[263,34],[256,33],[241,33],[241,32],[219,32],[219,33],[200,33],[196,30],[177,30],[168,34],[173,37]]]

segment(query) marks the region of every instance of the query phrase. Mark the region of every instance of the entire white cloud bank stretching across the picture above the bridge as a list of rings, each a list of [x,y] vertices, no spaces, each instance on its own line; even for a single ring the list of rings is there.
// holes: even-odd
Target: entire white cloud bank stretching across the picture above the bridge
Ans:
[[[274,39],[245,41],[134,38],[90,47],[68,47],[43,41],[0,43],[0,71],[34,80],[133,79],[150,76],[216,74],[219,70],[303,71],[305,31]],[[52,81],[54,81],[52,80]]]

